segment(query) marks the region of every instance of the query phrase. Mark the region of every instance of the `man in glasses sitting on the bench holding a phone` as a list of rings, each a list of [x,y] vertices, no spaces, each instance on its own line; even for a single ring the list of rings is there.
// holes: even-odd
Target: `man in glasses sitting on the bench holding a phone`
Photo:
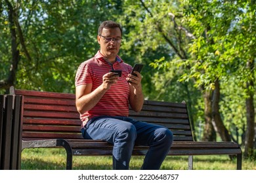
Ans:
[[[85,139],[114,144],[113,169],[129,169],[135,144],[149,146],[141,169],[160,169],[169,152],[173,134],[160,125],[128,118],[129,105],[139,112],[144,102],[140,73],[117,56],[122,29],[113,21],[98,27],[100,50],[81,63],[75,76],[75,103],[83,122]],[[121,70],[121,76],[111,70]]]

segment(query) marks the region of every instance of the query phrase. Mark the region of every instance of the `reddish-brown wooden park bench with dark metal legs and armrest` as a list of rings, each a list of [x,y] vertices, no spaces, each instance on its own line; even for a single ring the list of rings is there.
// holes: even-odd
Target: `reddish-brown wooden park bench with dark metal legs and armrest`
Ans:
[[[66,169],[72,169],[73,156],[112,155],[112,144],[83,139],[74,94],[14,90],[13,87],[10,93],[24,96],[22,150],[63,147],[67,154]],[[129,110],[129,116],[171,129],[174,142],[168,156],[188,156],[188,169],[193,169],[193,156],[211,154],[236,156],[237,169],[242,169],[242,150],[238,144],[193,140],[186,103],[144,101],[142,110]],[[145,155],[147,150],[147,146],[135,146],[133,155]]]

